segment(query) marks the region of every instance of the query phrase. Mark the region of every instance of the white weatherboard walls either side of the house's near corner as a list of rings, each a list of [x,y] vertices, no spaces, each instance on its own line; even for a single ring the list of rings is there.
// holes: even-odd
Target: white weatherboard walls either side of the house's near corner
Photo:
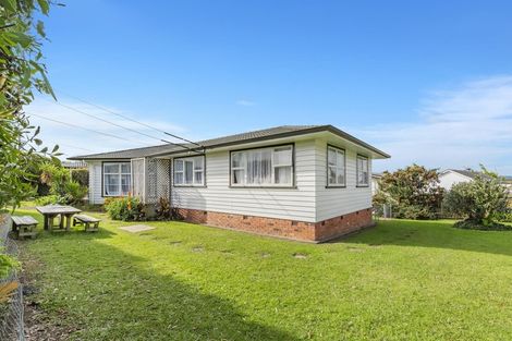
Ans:
[[[295,188],[230,187],[229,151],[206,156],[206,187],[171,190],[180,208],[318,222],[371,207],[371,187],[356,187],[355,150],[346,149],[346,187],[327,188],[327,141],[295,144]],[[369,160],[371,173],[371,159]]]

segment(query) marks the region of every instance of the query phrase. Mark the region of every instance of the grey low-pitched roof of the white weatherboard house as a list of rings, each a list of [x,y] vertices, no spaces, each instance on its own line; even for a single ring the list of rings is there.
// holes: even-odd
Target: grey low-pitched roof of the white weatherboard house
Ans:
[[[281,125],[259,131],[252,131],[242,134],[222,136],[211,139],[205,139],[197,142],[197,145],[203,146],[205,149],[219,148],[230,145],[237,145],[249,142],[259,142],[266,139],[273,139],[280,137],[297,136],[310,133],[318,132],[330,132],[334,135],[338,135],[342,138],[345,138],[352,143],[355,143],[359,146],[363,146],[383,158],[389,158],[390,156],[367,143],[337,129],[333,125]],[[89,155],[81,155],[69,158],[70,160],[97,160],[97,159],[133,159],[141,157],[151,157],[151,156],[162,156],[167,154],[178,154],[186,150],[186,148],[194,150],[202,150],[197,145],[194,144],[164,144],[151,147],[134,148],[134,149],[124,149],[124,150],[114,150],[108,153],[98,153]],[[185,146],[186,148],[183,148]]]

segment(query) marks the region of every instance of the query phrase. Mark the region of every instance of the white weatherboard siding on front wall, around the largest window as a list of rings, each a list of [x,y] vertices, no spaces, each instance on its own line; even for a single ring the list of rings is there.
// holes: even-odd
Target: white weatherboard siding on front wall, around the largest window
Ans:
[[[230,153],[206,155],[206,186],[171,190],[180,208],[315,222],[315,141],[295,144],[294,188],[230,187]]]

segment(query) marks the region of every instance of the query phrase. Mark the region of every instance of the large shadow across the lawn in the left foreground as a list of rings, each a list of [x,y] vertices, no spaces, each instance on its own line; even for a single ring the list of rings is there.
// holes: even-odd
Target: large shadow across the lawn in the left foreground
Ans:
[[[57,249],[42,240],[48,245],[33,251],[46,264],[45,290],[35,299],[59,324],[80,329],[72,340],[296,340],[252,321],[229,300],[159,273],[150,258],[101,241],[58,240]]]

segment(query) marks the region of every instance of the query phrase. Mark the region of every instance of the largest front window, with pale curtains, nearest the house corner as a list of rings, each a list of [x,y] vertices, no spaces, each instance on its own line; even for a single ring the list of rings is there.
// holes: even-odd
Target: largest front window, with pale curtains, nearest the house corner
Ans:
[[[231,153],[232,186],[292,186],[293,146]]]

